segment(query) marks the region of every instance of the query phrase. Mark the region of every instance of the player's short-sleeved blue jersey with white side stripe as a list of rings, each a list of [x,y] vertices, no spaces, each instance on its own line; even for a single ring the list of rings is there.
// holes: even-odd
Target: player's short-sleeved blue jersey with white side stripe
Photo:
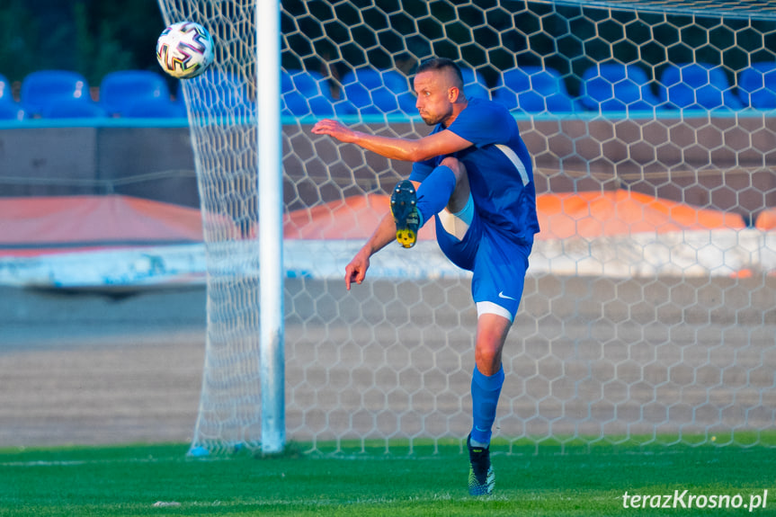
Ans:
[[[500,103],[472,98],[449,128],[438,124],[432,134],[444,129],[473,144],[452,156],[466,165],[479,218],[502,236],[533,243],[539,232],[533,166],[509,111]],[[415,163],[409,179],[423,182],[444,157]]]

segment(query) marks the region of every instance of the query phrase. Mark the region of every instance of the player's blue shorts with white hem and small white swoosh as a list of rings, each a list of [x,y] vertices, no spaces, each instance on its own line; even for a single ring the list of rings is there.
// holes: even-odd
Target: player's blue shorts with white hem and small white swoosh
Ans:
[[[477,315],[497,314],[514,321],[522,299],[531,245],[517,243],[483,223],[477,210],[471,210],[469,217],[468,229],[459,240],[445,230],[437,215],[439,247],[450,262],[473,273],[471,294],[477,304]]]

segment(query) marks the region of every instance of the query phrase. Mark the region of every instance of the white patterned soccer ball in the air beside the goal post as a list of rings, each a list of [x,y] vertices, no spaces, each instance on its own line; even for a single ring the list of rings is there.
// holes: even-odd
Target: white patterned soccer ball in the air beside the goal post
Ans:
[[[199,76],[210,67],[213,57],[213,38],[199,23],[173,23],[156,40],[159,66],[179,79]]]

